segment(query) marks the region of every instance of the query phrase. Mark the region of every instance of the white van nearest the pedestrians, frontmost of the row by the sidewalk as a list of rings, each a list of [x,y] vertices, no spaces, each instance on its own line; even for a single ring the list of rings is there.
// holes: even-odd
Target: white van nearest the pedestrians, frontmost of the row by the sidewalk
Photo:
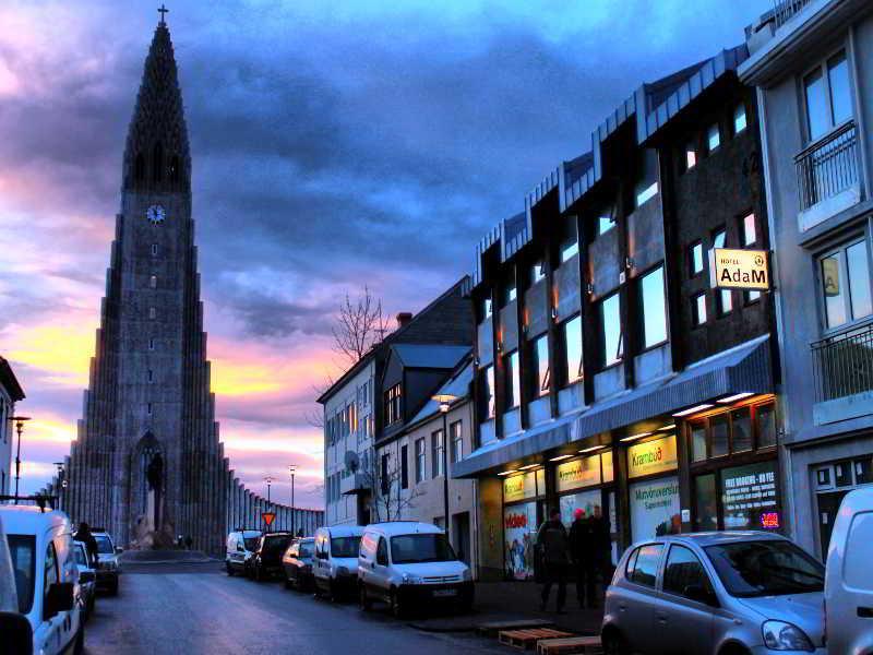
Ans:
[[[445,533],[411,521],[364,528],[358,593],[362,609],[370,609],[374,599],[383,600],[397,617],[439,603],[467,611],[474,599],[469,567],[457,558]]]

